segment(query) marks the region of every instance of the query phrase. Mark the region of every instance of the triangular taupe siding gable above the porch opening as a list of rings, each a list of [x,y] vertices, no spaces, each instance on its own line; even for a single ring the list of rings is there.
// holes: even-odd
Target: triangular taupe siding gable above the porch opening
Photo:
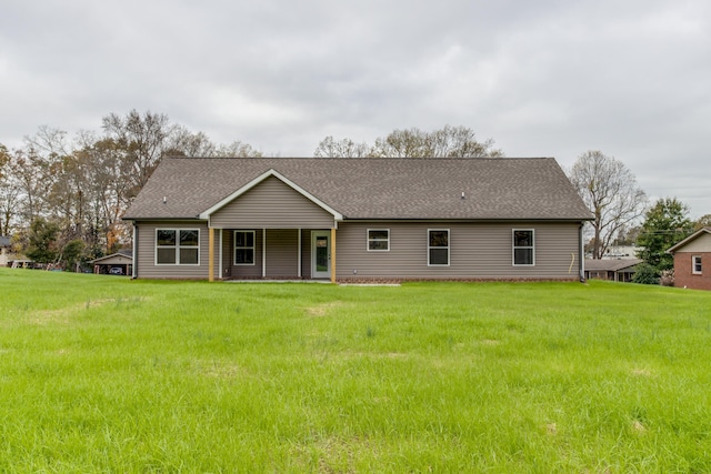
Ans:
[[[216,211],[210,224],[223,229],[331,229],[333,215],[271,177]]]

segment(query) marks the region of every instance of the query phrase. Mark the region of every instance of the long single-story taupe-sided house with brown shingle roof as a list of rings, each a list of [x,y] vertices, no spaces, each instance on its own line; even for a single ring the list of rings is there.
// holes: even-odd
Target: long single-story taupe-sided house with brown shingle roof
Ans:
[[[133,278],[579,280],[590,211],[552,158],[167,158]]]

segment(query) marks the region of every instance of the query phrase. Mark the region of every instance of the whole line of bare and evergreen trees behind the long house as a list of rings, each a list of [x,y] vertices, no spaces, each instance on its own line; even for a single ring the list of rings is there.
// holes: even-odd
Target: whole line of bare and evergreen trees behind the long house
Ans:
[[[77,262],[130,245],[121,218],[164,157],[260,158],[262,152],[239,140],[211,141],[203,132],[172,123],[162,113],[101,119],[101,132],[67,132],[40,127],[22,147],[0,143],[0,235],[11,235],[13,250],[43,263]],[[316,158],[503,158],[494,141],[479,141],[467,127],[423,131],[399,130],[372,143],[326,137]],[[603,258],[614,244],[635,243],[659,278],[673,262],[665,253],[695,229],[711,225],[711,215],[689,219],[675,198],[649,205],[647,193],[621,161],[588,151],[565,170],[594,219],[585,226],[587,253]],[[644,273],[644,272],[642,272]]]

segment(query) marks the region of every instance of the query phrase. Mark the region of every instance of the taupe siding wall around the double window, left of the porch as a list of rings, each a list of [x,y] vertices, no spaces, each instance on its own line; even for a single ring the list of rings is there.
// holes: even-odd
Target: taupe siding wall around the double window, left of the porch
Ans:
[[[209,276],[209,249],[210,234],[204,221],[144,221],[137,222],[138,250],[136,271],[139,279],[187,279],[207,280]],[[156,229],[199,229],[200,253],[199,265],[157,265],[156,264]],[[214,233],[218,242],[218,232]],[[217,249],[217,244],[216,244]],[[214,252],[214,269],[219,268],[219,252]]]

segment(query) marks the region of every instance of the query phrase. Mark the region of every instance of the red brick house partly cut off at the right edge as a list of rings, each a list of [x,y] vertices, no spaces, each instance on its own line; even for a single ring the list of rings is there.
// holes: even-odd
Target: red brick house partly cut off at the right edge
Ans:
[[[711,290],[711,226],[699,229],[667,252],[674,255],[674,286]]]

